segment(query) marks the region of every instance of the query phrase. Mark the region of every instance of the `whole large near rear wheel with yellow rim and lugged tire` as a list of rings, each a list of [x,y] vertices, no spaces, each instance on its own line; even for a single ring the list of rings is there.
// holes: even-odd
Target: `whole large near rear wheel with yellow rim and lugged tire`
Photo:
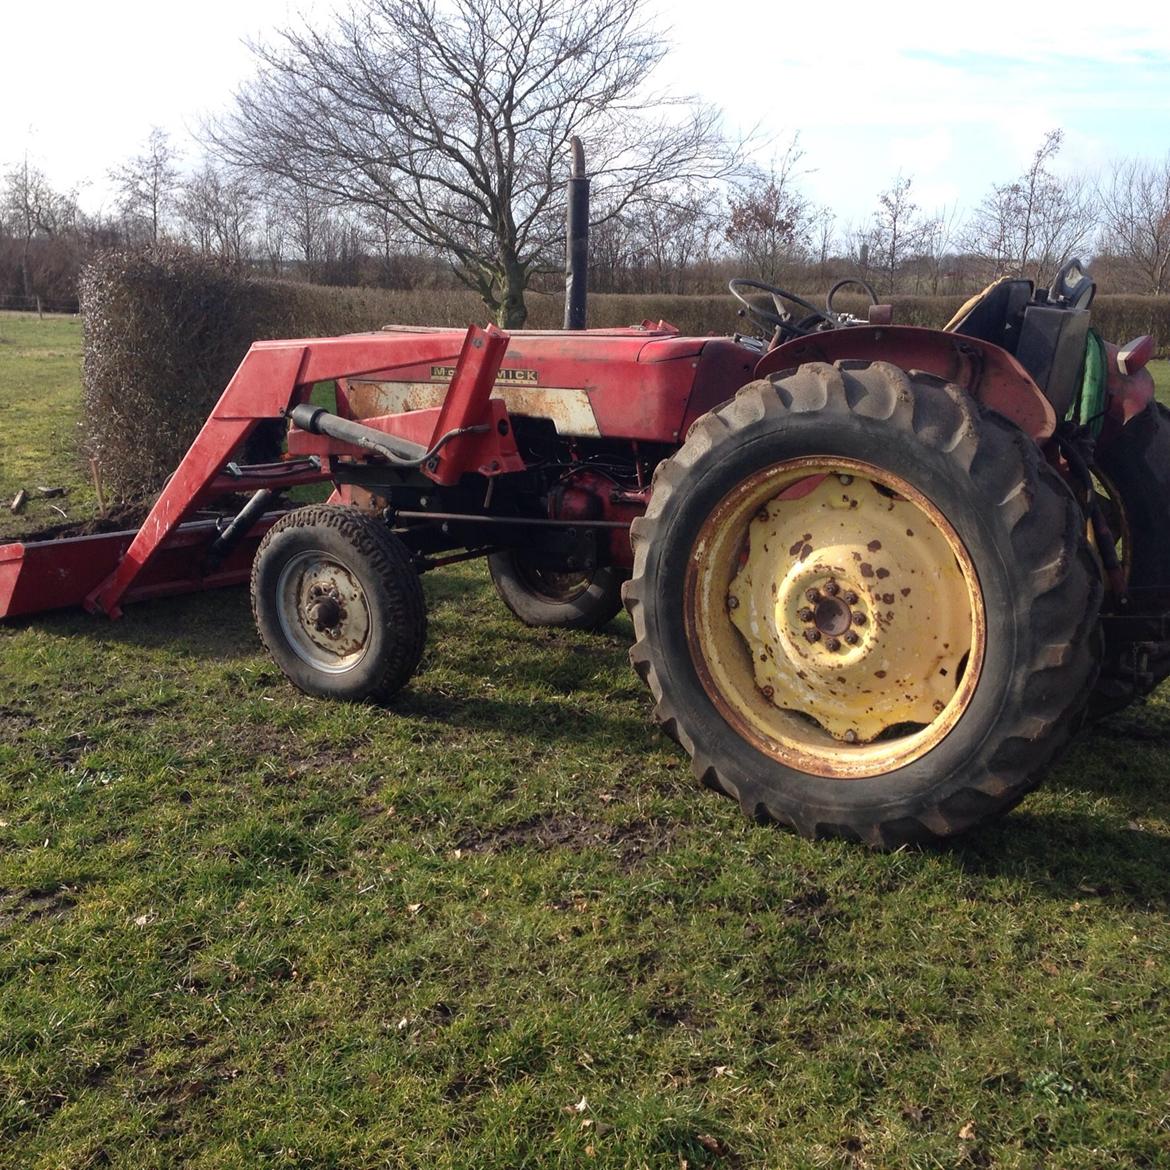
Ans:
[[[745,386],[662,463],[625,589],[700,780],[879,847],[1028,792],[1096,673],[1101,584],[1035,445],[886,363]]]

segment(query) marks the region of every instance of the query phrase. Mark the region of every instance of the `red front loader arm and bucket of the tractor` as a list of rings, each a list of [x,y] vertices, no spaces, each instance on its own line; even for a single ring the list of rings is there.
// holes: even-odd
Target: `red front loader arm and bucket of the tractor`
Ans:
[[[304,460],[300,464],[294,461],[270,468],[245,468],[243,475],[229,468],[233,453],[260,422],[291,415],[321,381],[420,363],[454,363],[455,377],[442,407],[433,412],[434,418],[420,419],[417,415],[425,412],[415,412],[413,419],[400,415],[369,421],[377,429],[399,436],[385,445],[387,449],[402,454],[415,449],[433,452],[419,467],[421,474],[433,480],[455,482],[466,470],[482,469],[487,432],[501,436],[508,429],[501,425],[505,419],[498,418],[502,404],[491,400],[508,342],[507,333],[490,325],[466,331],[420,330],[256,342],[137,532],[0,548],[0,618],[78,604],[91,613],[116,618],[128,597],[190,592],[247,579],[245,550],[238,550],[240,555],[221,564],[219,551],[223,542],[214,524],[184,521],[207,500],[239,491],[241,487],[261,493],[329,479],[328,468],[317,469]],[[325,456],[371,455],[370,449],[344,441],[318,442],[325,443],[318,447],[318,454]],[[381,456],[390,457],[387,450]],[[495,461],[498,470],[523,466],[510,434],[502,457]],[[487,460],[489,466],[490,462]],[[262,509],[241,512],[239,526],[246,524],[253,536],[269,523],[254,515],[259,510]]]

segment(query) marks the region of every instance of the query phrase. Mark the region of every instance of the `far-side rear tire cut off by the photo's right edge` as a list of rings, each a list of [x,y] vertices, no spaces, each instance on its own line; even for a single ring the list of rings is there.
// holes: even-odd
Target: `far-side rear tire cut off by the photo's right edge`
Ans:
[[[1170,411],[1161,402],[1151,402],[1112,442],[1099,445],[1095,459],[1120,496],[1116,502],[1124,514],[1127,584],[1134,590],[1164,590],[1170,594]],[[1141,593],[1135,592],[1130,612],[1147,610]],[[1157,636],[1157,625],[1151,625],[1149,636]],[[1170,677],[1170,646],[1162,644],[1163,653],[1147,656],[1145,679],[1138,686],[1128,663],[1130,644],[1110,636],[1121,628],[1108,622],[1104,626],[1104,659],[1093,696],[1094,717],[1121,710]]]

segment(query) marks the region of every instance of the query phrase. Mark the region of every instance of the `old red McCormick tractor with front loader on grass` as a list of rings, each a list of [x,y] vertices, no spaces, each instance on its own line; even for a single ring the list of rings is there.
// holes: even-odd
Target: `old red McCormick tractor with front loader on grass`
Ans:
[[[420,572],[487,557],[529,625],[624,603],[655,718],[750,815],[882,847],[962,832],[1170,674],[1152,343],[1096,337],[1076,262],[945,330],[852,317],[839,288],[819,308],[732,281],[759,337],[257,343],[142,530],[0,549],[0,615],[250,574],[295,686],[384,702],[422,654]],[[278,463],[232,462],[281,418]],[[329,503],[276,507],[312,480]]]

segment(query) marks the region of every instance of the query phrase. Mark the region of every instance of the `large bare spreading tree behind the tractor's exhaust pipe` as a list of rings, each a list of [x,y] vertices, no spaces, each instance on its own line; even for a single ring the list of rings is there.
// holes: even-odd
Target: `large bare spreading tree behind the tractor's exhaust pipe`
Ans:
[[[646,95],[666,46],[640,2],[358,0],[255,46],[209,137],[236,166],[391,216],[522,325],[530,278],[562,262],[570,135],[607,215],[738,165],[713,109]]]

